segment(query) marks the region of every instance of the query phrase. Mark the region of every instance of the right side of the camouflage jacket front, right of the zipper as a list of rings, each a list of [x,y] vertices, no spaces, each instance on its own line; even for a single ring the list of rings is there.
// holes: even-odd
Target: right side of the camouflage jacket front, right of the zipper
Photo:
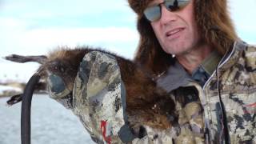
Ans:
[[[221,109],[226,111],[230,143],[256,143],[256,47],[236,42],[230,57],[206,83],[201,102],[208,128],[208,143],[223,143]],[[220,95],[224,106],[222,107]]]

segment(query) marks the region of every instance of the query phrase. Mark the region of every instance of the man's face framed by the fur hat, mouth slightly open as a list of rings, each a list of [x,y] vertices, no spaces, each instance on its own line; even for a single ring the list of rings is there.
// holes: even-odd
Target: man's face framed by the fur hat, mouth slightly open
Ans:
[[[163,0],[154,0],[158,4]],[[193,0],[181,10],[170,12],[162,5],[162,16],[158,21],[151,22],[154,34],[162,49],[168,54],[181,55],[190,52],[198,45],[198,28],[194,18]]]

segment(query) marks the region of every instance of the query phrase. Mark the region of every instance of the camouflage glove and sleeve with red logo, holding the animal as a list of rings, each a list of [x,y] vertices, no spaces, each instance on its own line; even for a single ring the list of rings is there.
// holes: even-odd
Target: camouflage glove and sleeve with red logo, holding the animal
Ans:
[[[74,83],[72,106],[97,143],[171,144],[177,131],[143,126],[146,135],[134,137],[127,124],[126,92],[118,63],[101,52],[90,52],[83,58]]]

